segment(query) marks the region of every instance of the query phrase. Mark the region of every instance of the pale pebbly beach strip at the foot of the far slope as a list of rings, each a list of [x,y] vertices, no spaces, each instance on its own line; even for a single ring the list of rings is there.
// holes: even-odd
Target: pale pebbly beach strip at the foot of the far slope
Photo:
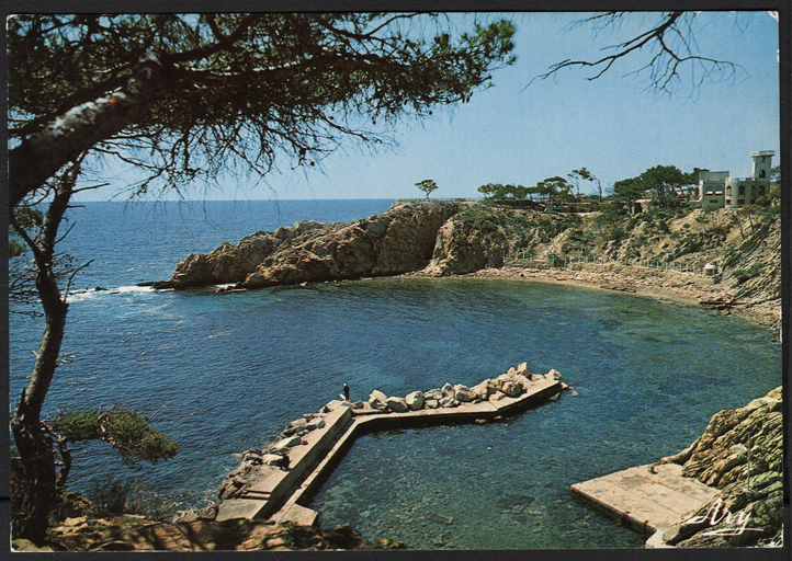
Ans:
[[[408,273],[408,277],[432,277],[426,271]],[[700,306],[702,301],[732,301],[734,293],[723,285],[695,274],[641,270],[640,267],[613,266],[601,272],[568,268],[527,268],[505,266],[484,268],[456,278],[488,278],[559,284],[597,290],[620,290],[648,298],[657,298],[680,306]],[[703,306],[702,306],[703,308]],[[717,309],[717,308],[715,308]],[[721,308],[725,314],[734,314],[763,327],[777,334],[781,328],[781,300],[744,302]]]

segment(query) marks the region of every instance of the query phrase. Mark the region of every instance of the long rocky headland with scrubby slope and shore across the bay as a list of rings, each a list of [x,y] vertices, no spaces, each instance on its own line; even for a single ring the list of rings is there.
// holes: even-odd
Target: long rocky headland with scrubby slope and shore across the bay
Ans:
[[[708,263],[715,265],[712,276],[703,274]],[[778,213],[728,209],[548,215],[418,202],[355,222],[299,221],[259,231],[208,254],[191,254],[169,280],[146,284],[220,285],[228,291],[393,275],[595,286],[701,305],[780,329],[781,220]]]

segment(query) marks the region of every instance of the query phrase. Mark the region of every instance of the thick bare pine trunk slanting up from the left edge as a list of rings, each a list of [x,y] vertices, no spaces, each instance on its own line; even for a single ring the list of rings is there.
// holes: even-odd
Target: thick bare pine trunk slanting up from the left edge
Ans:
[[[163,66],[151,55],[137,65],[120,91],[78,105],[11,150],[9,208],[80,153],[140,121],[173,72],[174,67]]]

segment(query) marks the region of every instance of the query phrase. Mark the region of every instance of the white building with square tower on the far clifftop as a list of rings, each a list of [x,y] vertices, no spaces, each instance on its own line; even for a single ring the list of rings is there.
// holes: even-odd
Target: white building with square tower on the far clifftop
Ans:
[[[754,170],[750,178],[729,178],[727,171],[700,170],[701,208],[743,208],[770,191],[772,150],[750,152]]]

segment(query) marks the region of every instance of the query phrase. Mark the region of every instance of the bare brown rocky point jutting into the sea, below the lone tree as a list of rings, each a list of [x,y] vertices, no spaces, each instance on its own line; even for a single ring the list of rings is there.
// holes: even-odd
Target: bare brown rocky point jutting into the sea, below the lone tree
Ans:
[[[459,203],[410,203],[357,222],[297,222],[294,228],[256,232],[236,245],[193,253],[170,280],[155,288],[191,288],[235,283],[236,288],[398,275],[425,267],[438,230]]]

